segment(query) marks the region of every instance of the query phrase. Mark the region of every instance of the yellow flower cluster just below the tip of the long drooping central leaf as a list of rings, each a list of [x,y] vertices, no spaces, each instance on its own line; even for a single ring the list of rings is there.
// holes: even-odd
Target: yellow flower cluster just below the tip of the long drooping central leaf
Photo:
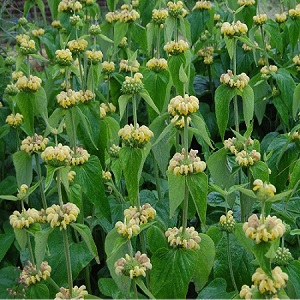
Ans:
[[[125,220],[130,221],[134,219],[138,225],[148,223],[148,219],[154,220],[155,216],[156,210],[149,203],[143,204],[140,210],[136,206],[130,206],[124,210]]]

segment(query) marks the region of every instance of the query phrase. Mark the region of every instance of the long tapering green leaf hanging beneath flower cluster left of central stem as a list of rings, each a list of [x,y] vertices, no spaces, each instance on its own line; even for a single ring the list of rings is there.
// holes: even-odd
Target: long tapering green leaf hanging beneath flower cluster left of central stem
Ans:
[[[139,194],[141,172],[149,151],[149,146],[144,149],[122,147],[120,150],[119,157],[125,177],[128,197],[132,205],[135,205]]]

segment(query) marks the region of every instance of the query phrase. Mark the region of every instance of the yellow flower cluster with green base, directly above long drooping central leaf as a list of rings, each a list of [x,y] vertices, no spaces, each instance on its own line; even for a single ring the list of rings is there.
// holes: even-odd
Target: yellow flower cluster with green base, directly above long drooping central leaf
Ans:
[[[125,146],[132,148],[144,148],[153,136],[153,132],[145,125],[134,127],[126,124],[118,132]]]

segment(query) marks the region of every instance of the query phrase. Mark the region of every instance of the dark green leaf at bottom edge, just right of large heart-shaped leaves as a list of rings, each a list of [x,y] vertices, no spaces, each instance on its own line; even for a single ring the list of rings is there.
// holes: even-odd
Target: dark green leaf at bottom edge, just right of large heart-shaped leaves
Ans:
[[[234,299],[236,292],[227,292],[224,278],[213,279],[197,296],[197,299]]]

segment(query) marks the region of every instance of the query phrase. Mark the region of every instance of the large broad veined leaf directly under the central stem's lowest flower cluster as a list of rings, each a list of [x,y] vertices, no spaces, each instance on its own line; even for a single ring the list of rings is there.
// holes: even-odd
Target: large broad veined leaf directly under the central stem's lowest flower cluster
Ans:
[[[161,248],[151,258],[150,287],[156,298],[185,299],[195,273],[197,252]]]

